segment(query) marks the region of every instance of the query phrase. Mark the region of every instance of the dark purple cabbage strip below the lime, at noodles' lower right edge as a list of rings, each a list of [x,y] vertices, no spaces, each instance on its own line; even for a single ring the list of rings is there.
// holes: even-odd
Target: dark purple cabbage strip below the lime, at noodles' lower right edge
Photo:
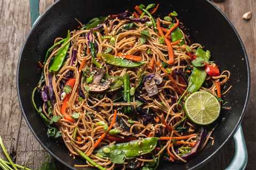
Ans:
[[[201,128],[201,133],[199,135],[196,145],[191,149],[191,151],[188,154],[181,156],[181,158],[188,160],[188,159],[194,157],[196,155],[197,151],[199,151],[199,149],[203,145],[205,139],[206,139],[206,131],[204,130],[204,128]]]

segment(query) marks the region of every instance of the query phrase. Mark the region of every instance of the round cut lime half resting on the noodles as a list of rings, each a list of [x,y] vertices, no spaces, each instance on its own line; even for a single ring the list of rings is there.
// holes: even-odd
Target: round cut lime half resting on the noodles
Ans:
[[[220,103],[210,92],[197,91],[186,99],[185,111],[192,122],[207,125],[219,117]]]

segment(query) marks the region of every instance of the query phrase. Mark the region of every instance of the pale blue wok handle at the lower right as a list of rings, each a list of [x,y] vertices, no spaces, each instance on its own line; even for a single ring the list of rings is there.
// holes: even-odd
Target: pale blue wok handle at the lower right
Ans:
[[[246,164],[247,164],[247,148],[245,145],[245,140],[244,140],[244,134],[242,130],[242,126],[239,125],[238,129],[234,135],[234,140],[235,140],[235,156],[229,166],[226,168],[226,170],[233,170],[233,169],[245,169]]]

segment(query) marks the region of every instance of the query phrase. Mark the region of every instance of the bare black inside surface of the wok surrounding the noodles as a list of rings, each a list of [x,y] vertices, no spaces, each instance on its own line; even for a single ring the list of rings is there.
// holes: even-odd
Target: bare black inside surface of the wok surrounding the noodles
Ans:
[[[233,85],[224,98],[228,101],[227,106],[232,107],[231,111],[223,110],[219,120],[212,125],[218,124],[213,133],[214,145],[208,145],[187,164],[166,162],[162,163],[158,169],[193,169],[201,166],[229,139],[241,121],[250,84],[249,64],[244,47],[233,26],[212,4],[202,0],[62,0],[55,3],[31,30],[21,49],[17,80],[22,112],[31,131],[41,145],[63,164],[73,167],[74,164],[85,163],[85,160],[79,158],[74,160],[69,156],[63,142],[47,137],[46,126],[31,104],[31,91],[41,75],[37,61],[43,61],[46,50],[51,47],[56,37],[65,37],[68,29],[76,29],[78,23],[75,18],[86,22],[96,16],[106,16],[127,9],[132,11],[136,4],[153,2],[160,4],[157,12],[160,16],[165,16],[173,10],[178,12],[180,21],[189,28],[194,42],[205,45],[205,48],[210,50],[211,60],[217,61],[221,70],[227,69],[231,72],[228,84]],[[41,102],[38,96],[36,96],[36,102]]]

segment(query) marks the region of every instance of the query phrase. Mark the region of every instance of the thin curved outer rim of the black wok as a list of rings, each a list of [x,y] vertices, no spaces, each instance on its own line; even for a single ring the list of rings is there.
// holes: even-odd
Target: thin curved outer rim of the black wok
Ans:
[[[236,132],[237,128],[238,128],[238,125],[242,122],[243,120],[243,117],[245,115],[245,111],[246,111],[246,108],[247,108],[247,104],[248,104],[248,101],[249,101],[249,96],[250,96],[250,89],[251,89],[251,72],[250,72],[250,64],[249,64],[249,58],[247,56],[247,53],[246,53],[246,49],[244,47],[244,44],[243,44],[243,41],[241,39],[241,37],[239,36],[236,28],[234,27],[234,25],[231,23],[231,21],[227,18],[227,16],[220,10],[220,8],[218,8],[215,4],[213,4],[212,2],[210,2],[209,0],[206,0],[207,3],[211,4],[215,10],[217,10],[218,12],[221,13],[221,15],[223,16],[223,18],[225,18],[225,20],[229,23],[229,25],[231,26],[231,29],[233,29],[233,31],[235,32],[238,40],[239,40],[239,43],[243,49],[243,52],[244,52],[244,57],[245,57],[245,62],[246,62],[246,71],[247,71],[247,92],[246,92],[246,97],[245,97],[245,102],[244,102],[244,107],[243,107],[243,110],[242,110],[242,113],[239,117],[239,120],[238,122],[236,123],[235,127],[233,128],[233,130],[231,131],[231,133],[228,135],[228,137],[226,138],[226,140],[219,146],[219,148],[217,148],[214,152],[212,152],[211,155],[209,155],[206,159],[204,159],[201,163],[189,168],[189,169],[196,169],[196,168],[199,168],[201,166],[203,166],[204,164],[206,164],[207,162],[209,162],[213,156],[215,154],[217,154],[217,152],[227,143],[227,141],[233,137],[234,133]],[[21,97],[20,97],[20,90],[19,90],[19,71],[20,71],[20,62],[22,60],[22,54],[23,54],[23,51],[24,51],[24,48],[27,44],[27,41],[28,39],[30,38],[31,34],[34,32],[35,28],[37,27],[37,25],[40,24],[41,20],[45,17],[45,15],[47,13],[49,13],[49,11],[51,10],[52,7],[54,7],[56,4],[58,4],[59,1],[57,2],[54,2],[50,7],[47,8],[47,10],[41,15],[39,16],[39,18],[36,20],[36,23],[33,25],[33,28],[31,28],[31,30],[29,31],[26,39],[25,39],[25,42],[23,43],[21,49],[20,49],[20,53],[19,53],[19,59],[18,59],[18,65],[17,65],[17,94],[18,94],[18,100],[19,100],[19,105],[20,105],[20,108],[21,108],[21,111],[22,111],[22,115],[23,117],[25,118],[26,120],[26,123],[30,129],[30,131],[33,133],[34,137],[37,139],[37,141],[40,143],[40,145],[51,155],[53,156],[55,159],[57,159],[60,163],[62,163],[63,165],[65,165],[66,167],[70,168],[70,169],[74,169],[76,170],[76,168],[74,168],[73,166],[67,164],[66,162],[64,162],[62,159],[60,159],[57,155],[55,155],[49,148],[46,147],[46,145],[39,139],[39,137],[37,136],[36,132],[34,131],[34,129],[31,127],[30,125],[30,122],[28,121],[28,118],[26,116],[26,113],[25,113],[25,110],[23,109],[23,106],[22,106],[22,103],[21,103]]]

